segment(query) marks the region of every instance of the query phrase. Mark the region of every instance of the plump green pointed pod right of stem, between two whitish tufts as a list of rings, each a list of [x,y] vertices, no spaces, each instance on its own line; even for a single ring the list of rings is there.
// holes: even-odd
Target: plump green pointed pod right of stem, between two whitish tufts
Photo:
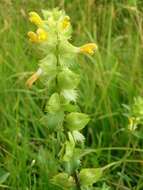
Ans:
[[[81,130],[87,125],[89,120],[90,118],[87,114],[72,112],[66,116],[66,127],[71,131]]]

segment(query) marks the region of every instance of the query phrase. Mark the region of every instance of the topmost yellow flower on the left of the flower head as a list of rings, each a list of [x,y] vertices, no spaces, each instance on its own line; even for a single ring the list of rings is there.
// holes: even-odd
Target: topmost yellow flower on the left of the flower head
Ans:
[[[43,20],[36,12],[30,12],[29,13],[29,20],[35,24],[36,26],[42,26]]]

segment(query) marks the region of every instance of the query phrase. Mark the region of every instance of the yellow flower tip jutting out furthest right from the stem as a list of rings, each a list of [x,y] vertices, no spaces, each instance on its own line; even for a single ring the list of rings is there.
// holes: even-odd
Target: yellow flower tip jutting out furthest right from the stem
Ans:
[[[81,53],[87,53],[90,55],[93,55],[96,50],[97,50],[97,45],[95,43],[88,43],[80,47]]]

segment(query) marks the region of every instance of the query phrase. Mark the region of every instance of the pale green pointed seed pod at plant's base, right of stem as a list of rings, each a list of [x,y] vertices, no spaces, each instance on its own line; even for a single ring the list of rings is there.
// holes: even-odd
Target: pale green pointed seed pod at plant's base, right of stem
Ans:
[[[79,178],[82,186],[93,185],[102,177],[102,168],[85,168],[79,173]]]

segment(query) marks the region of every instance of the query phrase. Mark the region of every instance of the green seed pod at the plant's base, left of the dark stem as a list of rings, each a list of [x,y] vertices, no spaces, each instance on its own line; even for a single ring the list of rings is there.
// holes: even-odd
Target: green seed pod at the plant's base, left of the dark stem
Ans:
[[[75,183],[71,176],[68,176],[67,173],[59,173],[53,177],[51,182],[54,185],[61,187],[64,190],[73,190],[75,189]]]

